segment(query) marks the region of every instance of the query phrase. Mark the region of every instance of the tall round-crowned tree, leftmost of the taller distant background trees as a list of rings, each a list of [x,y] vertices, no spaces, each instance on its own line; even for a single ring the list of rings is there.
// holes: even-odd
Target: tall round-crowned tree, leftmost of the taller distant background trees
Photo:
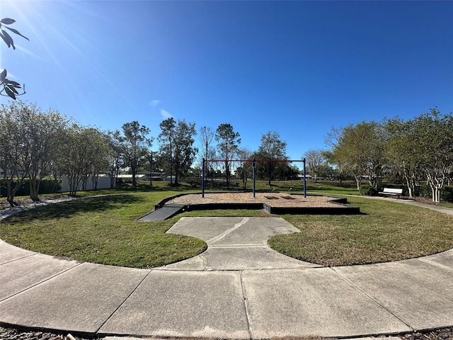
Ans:
[[[149,128],[140,125],[137,120],[122,125],[123,135],[120,137],[124,165],[130,167],[132,187],[137,188],[137,169],[147,158],[152,139],[148,138]]]

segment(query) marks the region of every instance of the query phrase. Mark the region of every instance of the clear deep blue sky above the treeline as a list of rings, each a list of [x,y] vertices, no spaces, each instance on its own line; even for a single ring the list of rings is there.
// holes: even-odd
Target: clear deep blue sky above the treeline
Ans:
[[[0,44],[21,99],[101,130],[230,123],[300,159],[333,127],[453,111],[452,1],[0,0],[0,17],[30,39]]]

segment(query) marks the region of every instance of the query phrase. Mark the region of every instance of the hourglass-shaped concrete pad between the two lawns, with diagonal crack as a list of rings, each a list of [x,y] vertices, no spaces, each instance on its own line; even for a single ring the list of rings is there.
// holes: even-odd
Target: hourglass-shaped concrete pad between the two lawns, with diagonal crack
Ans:
[[[207,251],[164,270],[232,271],[318,267],[270,249],[268,239],[299,232],[280,217],[183,217],[168,232],[204,239]]]

